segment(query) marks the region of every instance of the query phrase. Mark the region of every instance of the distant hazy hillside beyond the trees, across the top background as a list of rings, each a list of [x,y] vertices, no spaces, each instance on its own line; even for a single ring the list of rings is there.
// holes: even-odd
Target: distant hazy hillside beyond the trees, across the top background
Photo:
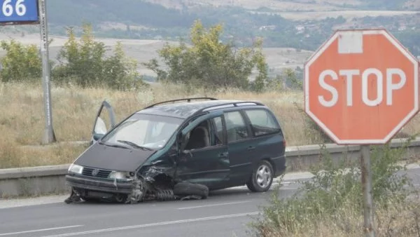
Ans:
[[[58,47],[52,48],[52,59],[67,27],[78,32],[83,22],[90,22],[97,37],[112,38],[108,41],[114,43],[125,39],[127,54],[146,62],[157,56],[155,51],[164,41],[188,41],[197,19],[205,26],[223,23],[223,41],[238,47],[262,37],[273,72],[301,67],[309,54],[297,52],[316,50],[340,28],[386,27],[420,55],[420,0],[349,0],[345,4],[341,0],[54,0],[47,4],[49,32]],[[1,39],[13,36],[25,43],[38,44],[37,34],[37,26],[0,28]],[[139,70],[144,72],[144,68]]]

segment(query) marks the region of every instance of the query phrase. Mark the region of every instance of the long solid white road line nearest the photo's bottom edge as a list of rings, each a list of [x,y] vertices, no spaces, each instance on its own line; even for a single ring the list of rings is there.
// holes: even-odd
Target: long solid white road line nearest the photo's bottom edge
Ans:
[[[43,236],[43,237],[65,237],[65,236],[81,236],[91,233],[104,233],[104,232],[111,232],[111,231],[122,231],[127,229],[141,229],[144,227],[151,227],[151,226],[164,226],[167,224],[182,224],[188,222],[203,222],[209,221],[213,219],[225,219],[225,218],[232,218],[232,217],[245,217],[247,215],[258,215],[260,212],[247,212],[247,213],[239,213],[239,214],[232,214],[232,215],[219,215],[215,217],[202,217],[202,218],[194,218],[194,219],[180,219],[177,221],[170,221],[170,222],[156,222],[151,224],[139,224],[137,226],[121,226],[121,227],[114,227],[109,229],[95,229],[92,231],[80,231],[80,232],[73,232],[73,233],[62,233],[53,236]]]

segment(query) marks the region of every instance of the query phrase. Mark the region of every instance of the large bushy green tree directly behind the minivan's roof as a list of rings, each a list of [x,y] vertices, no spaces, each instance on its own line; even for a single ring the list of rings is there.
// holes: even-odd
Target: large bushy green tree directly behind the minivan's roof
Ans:
[[[267,65],[262,55],[262,41],[258,39],[250,48],[235,48],[232,43],[223,43],[222,25],[204,29],[200,20],[195,21],[191,32],[191,46],[180,41],[178,46],[168,43],[158,50],[167,66],[161,69],[158,60],[144,64],[157,74],[158,81],[186,83],[205,88],[248,88],[252,69],[258,70],[254,88],[260,90],[267,79]]]

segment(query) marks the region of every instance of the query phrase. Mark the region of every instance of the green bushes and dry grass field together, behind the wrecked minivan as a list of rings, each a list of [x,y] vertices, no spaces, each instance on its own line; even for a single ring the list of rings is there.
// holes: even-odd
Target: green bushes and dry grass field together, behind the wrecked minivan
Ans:
[[[329,142],[304,114],[302,82],[293,69],[274,78],[267,76],[260,40],[238,50],[220,41],[221,25],[205,28],[196,21],[190,33],[195,42],[192,46],[182,42],[165,46],[158,52],[165,65],[158,65],[158,60],[147,63],[158,74],[158,83],[148,84],[135,70],[137,62],[127,57],[120,45],[109,50],[95,41],[91,25],[83,25],[80,39],[71,28],[67,33],[69,40],[58,63],[51,64],[52,122],[59,142],[54,146],[39,146],[44,114],[41,58],[36,46],[1,42],[6,55],[0,59],[0,168],[73,161],[85,147],[67,142],[90,140],[102,100],[113,105],[118,120],[153,102],[180,97],[258,100],[279,117],[288,146]],[[251,76],[255,76],[253,81],[246,80]],[[419,132],[418,121],[414,118],[403,133]]]

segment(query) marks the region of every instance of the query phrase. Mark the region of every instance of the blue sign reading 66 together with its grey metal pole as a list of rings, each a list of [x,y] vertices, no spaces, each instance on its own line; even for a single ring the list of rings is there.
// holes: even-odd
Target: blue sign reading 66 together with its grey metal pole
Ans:
[[[0,0],[0,25],[40,25],[45,132],[43,144],[55,142],[50,98],[50,65],[45,0]],[[41,18],[41,19],[40,19]]]

